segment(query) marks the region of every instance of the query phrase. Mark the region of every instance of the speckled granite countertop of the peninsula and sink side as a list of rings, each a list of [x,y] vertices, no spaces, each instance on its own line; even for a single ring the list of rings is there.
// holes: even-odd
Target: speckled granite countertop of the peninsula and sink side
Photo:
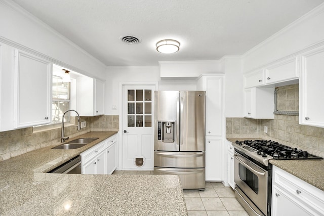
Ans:
[[[90,146],[43,149],[0,162],[0,215],[187,215],[181,183],[175,175],[80,175],[47,172]],[[71,139],[72,140],[72,139]]]

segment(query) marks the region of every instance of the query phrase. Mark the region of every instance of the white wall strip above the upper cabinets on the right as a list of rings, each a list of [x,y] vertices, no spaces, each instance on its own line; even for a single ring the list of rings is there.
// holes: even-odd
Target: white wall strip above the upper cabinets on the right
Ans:
[[[323,23],[324,4],[321,4],[244,54],[242,71],[251,71],[324,41]]]

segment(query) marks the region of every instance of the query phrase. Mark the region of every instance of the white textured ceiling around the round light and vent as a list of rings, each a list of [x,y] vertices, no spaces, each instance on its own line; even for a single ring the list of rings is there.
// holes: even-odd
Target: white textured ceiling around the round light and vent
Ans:
[[[107,66],[242,55],[324,0],[13,0]],[[134,35],[140,44],[120,37]],[[180,51],[155,44],[176,39]]]

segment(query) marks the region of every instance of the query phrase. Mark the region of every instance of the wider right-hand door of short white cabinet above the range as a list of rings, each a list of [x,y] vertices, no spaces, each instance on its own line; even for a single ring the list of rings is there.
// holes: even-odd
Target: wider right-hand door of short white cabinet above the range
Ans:
[[[265,84],[289,81],[299,77],[299,57],[270,65],[265,69]]]

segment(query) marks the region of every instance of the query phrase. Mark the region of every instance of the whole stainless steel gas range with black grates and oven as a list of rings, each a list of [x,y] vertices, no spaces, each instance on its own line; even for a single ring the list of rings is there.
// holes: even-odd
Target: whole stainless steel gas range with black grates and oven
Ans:
[[[271,215],[269,160],[322,159],[271,140],[236,141],[233,147],[235,197],[250,215]]]

